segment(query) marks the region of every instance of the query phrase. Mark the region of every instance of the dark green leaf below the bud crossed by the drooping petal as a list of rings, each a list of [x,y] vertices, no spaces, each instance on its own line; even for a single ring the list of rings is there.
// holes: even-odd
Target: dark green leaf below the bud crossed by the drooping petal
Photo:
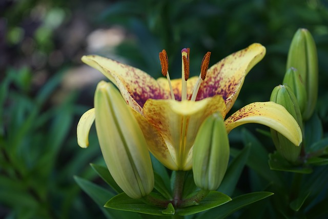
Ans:
[[[294,166],[290,164],[277,151],[269,155],[269,166],[271,170],[305,174],[312,173],[312,169],[310,167]]]

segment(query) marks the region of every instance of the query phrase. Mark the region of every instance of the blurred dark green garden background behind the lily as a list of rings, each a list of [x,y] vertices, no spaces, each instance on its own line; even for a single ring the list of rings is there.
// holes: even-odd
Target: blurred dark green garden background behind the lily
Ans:
[[[0,2],[0,218],[104,218],[73,175],[101,184],[89,163],[103,163],[94,129],[88,149],[76,142],[79,117],[93,107],[101,73],[81,63],[100,54],[161,76],[181,74],[180,51],[191,49],[191,75],[203,55],[210,66],[252,43],[267,55],[251,70],[231,112],[268,101],[282,83],[298,28],[318,49],[318,115],[328,121],[328,1],[64,1]],[[249,126],[255,134],[259,135]],[[238,147],[237,134],[230,135]],[[268,146],[273,149],[273,145]],[[240,190],[249,190],[247,171]]]

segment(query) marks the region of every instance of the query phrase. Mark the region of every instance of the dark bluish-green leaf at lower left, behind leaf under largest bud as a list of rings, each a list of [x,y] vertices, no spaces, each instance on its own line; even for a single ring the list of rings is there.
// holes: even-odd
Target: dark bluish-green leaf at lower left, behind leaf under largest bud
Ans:
[[[83,178],[80,178],[78,176],[74,176],[74,180],[76,183],[83,189],[91,198],[92,200],[97,203],[101,211],[105,214],[107,218],[112,219],[125,219],[125,218],[136,218],[139,219],[140,216],[135,213],[131,212],[122,212],[117,211],[114,209],[108,209],[104,208],[104,203],[107,202],[107,200],[114,196],[114,194],[100,186],[97,186],[96,184],[84,180]]]

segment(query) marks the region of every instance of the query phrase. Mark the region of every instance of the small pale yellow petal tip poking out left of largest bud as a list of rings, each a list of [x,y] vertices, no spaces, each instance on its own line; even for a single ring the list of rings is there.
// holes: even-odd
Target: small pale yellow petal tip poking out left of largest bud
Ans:
[[[81,148],[87,148],[89,146],[89,132],[90,128],[95,120],[95,109],[92,108],[85,112],[77,124],[77,144]]]

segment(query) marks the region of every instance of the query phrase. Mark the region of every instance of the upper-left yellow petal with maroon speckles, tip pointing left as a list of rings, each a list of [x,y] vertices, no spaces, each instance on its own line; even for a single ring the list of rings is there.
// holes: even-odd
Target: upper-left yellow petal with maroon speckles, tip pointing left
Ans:
[[[125,101],[140,113],[147,99],[169,97],[153,77],[137,68],[97,55],[83,56],[82,61],[108,77],[118,87]]]

